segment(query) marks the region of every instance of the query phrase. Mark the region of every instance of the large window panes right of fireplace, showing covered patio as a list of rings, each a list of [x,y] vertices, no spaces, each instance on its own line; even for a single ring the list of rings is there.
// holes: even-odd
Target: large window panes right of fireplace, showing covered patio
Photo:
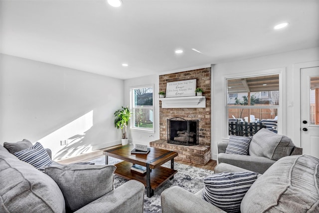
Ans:
[[[242,125],[263,123],[266,128],[278,132],[279,74],[228,78],[226,83],[229,122],[237,119]],[[276,125],[267,126],[271,122]]]

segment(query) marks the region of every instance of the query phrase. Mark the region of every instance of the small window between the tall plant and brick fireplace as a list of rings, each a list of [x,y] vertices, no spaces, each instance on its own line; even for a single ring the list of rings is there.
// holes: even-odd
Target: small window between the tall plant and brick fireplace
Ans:
[[[154,85],[131,88],[131,129],[154,133]]]

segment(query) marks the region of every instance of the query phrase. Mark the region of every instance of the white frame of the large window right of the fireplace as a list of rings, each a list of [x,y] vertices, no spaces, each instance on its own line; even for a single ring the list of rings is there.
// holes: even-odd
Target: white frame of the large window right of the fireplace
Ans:
[[[267,75],[279,75],[279,106],[238,106],[238,107],[228,107],[227,104],[227,80],[237,79],[237,78],[249,78],[256,76],[267,76]],[[286,67],[275,68],[275,69],[266,69],[245,73],[235,73],[224,75],[223,87],[225,91],[225,138],[229,137],[228,132],[228,109],[230,108],[277,108],[278,109],[278,134],[285,135],[286,134],[286,113],[283,112],[283,109],[286,109]]]

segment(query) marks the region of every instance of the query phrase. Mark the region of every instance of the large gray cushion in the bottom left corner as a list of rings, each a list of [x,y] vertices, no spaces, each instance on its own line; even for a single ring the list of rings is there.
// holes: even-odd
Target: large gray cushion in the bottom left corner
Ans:
[[[0,213],[65,213],[65,202],[49,176],[0,154]]]

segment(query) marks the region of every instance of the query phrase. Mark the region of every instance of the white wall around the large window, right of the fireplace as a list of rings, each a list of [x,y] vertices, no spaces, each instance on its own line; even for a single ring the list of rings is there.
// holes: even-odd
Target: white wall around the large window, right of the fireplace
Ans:
[[[283,112],[286,113],[286,126],[284,126],[283,133],[293,139],[296,146],[300,146],[300,138],[294,138],[294,126],[299,125],[300,121],[294,119],[294,107],[300,105],[300,100],[294,100],[294,80],[300,76],[294,76],[294,64],[307,61],[319,60],[319,48],[310,48],[299,51],[285,52],[280,54],[268,55],[264,57],[251,58],[246,60],[233,61],[228,63],[220,63],[214,65],[213,70],[213,131],[212,131],[212,158],[216,159],[217,142],[222,141],[222,138],[227,137],[225,134],[225,87],[223,81],[225,75],[241,73],[254,74],[256,71],[285,68],[286,69],[286,107]],[[300,82],[300,81],[298,81]],[[293,103],[293,107],[288,107],[288,103]],[[297,123],[296,123],[297,122]],[[216,125],[218,124],[218,125]]]

